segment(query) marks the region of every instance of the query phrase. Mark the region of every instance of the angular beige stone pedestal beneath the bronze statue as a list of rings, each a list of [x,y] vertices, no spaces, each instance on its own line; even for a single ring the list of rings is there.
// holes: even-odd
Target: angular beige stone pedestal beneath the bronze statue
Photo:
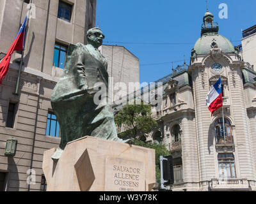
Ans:
[[[150,191],[156,182],[155,151],[84,136],[67,143],[58,163],[44,152],[47,191]]]

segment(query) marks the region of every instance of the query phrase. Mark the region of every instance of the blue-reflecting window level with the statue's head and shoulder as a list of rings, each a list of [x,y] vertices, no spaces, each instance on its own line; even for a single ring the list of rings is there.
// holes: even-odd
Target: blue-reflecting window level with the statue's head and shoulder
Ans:
[[[61,45],[60,43],[55,43],[54,46],[54,57],[53,57],[53,66],[64,69],[66,56],[67,56],[67,45]]]

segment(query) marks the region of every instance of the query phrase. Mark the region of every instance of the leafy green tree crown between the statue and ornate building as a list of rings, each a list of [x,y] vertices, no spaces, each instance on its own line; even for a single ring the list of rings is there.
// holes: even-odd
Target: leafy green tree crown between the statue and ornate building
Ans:
[[[115,122],[118,126],[125,125],[127,131],[120,133],[121,138],[141,139],[147,136],[152,128],[157,127],[156,120],[151,117],[151,106],[143,105],[125,105],[120,112],[115,115]]]

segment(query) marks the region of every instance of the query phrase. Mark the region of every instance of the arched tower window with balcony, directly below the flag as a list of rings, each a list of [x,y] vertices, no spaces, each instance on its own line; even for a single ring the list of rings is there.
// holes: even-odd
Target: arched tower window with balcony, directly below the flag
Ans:
[[[223,118],[219,118],[215,122],[215,133],[216,133],[216,143],[233,143],[231,125],[228,119],[224,119],[223,128]],[[224,138],[225,134],[225,138]]]

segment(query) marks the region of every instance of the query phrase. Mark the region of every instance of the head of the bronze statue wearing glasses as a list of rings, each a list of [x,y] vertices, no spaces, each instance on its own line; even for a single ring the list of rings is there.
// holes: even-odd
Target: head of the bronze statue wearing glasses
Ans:
[[[105,36],[100,31],[99,27],[93,27],[87,32],[88,43],[93,45],[93,47],[100,47],[104,38]]]

